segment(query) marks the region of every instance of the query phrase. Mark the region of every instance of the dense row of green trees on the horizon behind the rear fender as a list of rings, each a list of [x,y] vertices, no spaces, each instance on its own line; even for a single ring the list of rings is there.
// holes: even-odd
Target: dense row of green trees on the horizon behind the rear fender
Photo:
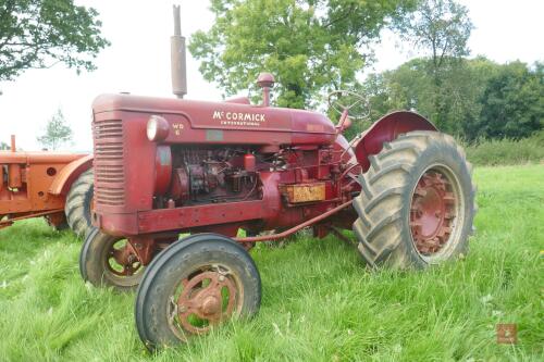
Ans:
[[[419,58],[371,74],[360,91],[370,98],[372,120],[392,110],[415,110],[467,141],[519,139],[543,128],[544,64],[540,62],[452,60],[436,86],[432,60]],[[357,124],[353,132],[364,126]]]

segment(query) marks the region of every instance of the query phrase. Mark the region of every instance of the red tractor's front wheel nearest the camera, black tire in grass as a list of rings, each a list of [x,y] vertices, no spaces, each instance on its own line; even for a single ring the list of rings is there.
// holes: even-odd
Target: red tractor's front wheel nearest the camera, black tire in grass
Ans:
[[[147,348],[208,333],[231,317],[259,310],[261,279],[251,257],[217,234],[197,234],[164,249],[147,267],[135,317]]]

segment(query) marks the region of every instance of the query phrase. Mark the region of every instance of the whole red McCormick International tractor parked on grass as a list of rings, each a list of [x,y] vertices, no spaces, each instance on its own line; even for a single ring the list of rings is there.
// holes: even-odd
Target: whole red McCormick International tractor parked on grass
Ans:
[[[183,98],[175,23],[173,85]],[[467,252],[474,187],[450,136],[400,111],[347,141],[361,97],[331,95],[335,125],[272,107],[273,84],[259,76],[261,104],[131,95],[92,104],[96,228],[79,266],[97,286],[139,284],[135,317],[148,348],[257,313],[261,279],[248,249],[258,241],[353,229],[370,267],[421,269]]]

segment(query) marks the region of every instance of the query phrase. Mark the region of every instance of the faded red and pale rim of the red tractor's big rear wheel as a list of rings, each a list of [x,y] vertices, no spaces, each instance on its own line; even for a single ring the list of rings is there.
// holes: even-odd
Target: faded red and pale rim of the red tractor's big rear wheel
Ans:
[[[411,241],[428,263],[452,255],[465,223],[465,199],[458,177],[446,165],[429,166],[419,177],[410,201]]]

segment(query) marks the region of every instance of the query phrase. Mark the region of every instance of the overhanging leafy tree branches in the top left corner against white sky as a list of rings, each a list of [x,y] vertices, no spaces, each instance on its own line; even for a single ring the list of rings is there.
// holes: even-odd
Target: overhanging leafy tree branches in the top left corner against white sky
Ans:
[[[95,70],[92,59],[109,45],[97,16],[73,0],[0,0],[0,80],[59,62]]]

